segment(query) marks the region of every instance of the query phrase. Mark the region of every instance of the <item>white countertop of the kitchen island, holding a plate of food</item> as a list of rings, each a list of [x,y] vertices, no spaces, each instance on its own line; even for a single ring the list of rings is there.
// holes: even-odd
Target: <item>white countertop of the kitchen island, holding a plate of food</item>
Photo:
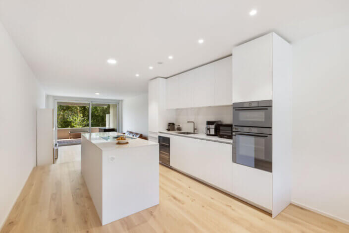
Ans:
[[[114,150],[114,149],[131,148],[131,147],[138,147],[138,146],[151,146],[151,145],[158,144],[158,143],[144,140],[141,138],[131,139],[126,144],[116,144],[116,139],[112,137],[117,135],[124,135],[118,132],[82,133],[81,135],[84,136],[87,140],[89,140],[93,144],[95,144],[101,150]],[[105,140],[102,138],[107,136],[110,136],[110,140]],[[128,137],[131,137],[131,136],[128,136]]]

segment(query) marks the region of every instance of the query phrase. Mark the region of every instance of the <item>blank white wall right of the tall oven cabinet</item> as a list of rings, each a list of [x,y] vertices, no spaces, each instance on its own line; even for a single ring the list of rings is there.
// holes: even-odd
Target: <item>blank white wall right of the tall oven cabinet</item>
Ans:
[[[349,25],[293,44],[293,202],[349,224]]]

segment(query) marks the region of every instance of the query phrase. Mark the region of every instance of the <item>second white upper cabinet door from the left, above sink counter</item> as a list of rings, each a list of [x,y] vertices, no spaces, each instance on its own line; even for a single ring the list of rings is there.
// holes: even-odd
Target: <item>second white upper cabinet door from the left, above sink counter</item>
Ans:
[[[194,107],[195,72],[188,71],[178,75],[178,108]]]

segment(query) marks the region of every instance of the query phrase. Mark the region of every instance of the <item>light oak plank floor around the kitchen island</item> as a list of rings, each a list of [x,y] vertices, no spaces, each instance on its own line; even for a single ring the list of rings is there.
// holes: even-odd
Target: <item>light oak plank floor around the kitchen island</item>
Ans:
[[[349,226],[290,205],[276,219],[160,166],[160,204],[101,226],[80,161],[36,167],[1,233],[349,232]]]

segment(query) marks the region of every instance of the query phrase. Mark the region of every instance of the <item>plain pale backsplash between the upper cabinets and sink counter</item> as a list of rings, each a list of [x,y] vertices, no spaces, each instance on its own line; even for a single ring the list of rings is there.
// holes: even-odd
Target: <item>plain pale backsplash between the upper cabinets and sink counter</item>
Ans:
[[[176,124],[182,125],[183,131],[191,131],[193,124],[187,121],[194,121],[198,132],[203,133],[206,120],[221,120],[222,123],[232,124],[232,106],[176,109]]]

